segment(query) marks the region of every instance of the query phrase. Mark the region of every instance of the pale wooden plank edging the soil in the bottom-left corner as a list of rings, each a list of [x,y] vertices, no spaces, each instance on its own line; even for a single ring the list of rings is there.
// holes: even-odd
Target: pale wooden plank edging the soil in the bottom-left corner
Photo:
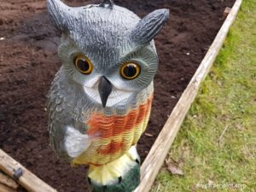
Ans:
[[[17,182],[28,192],[56,192],[55,189],[44,183],[44,181],[0,149],[0,170],[9,175],[9,177],[14,178],[15,170],[19,168],[22,169],[23,174],[17,179]]]

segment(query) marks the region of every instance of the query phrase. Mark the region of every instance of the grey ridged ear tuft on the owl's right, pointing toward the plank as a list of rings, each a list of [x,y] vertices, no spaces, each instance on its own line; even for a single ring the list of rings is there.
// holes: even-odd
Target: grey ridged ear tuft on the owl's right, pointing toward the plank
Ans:
[[[139,21],[131,32],[131,39],[136,44],[148,44],[160,32],[169,17],[169,9],[157,9]]]

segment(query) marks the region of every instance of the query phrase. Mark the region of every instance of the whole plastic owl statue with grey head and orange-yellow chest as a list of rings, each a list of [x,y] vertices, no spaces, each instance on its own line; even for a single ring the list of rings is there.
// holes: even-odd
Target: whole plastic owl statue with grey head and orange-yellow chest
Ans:
[[[112,1],[47,4],[62,32],[62,67],[48,98],[50,144],[59,158],[89,165],[92,191],[131,192],[140,180],[136,144],[148,124],[158,67],[153,38],[169,10],[140,19]]]

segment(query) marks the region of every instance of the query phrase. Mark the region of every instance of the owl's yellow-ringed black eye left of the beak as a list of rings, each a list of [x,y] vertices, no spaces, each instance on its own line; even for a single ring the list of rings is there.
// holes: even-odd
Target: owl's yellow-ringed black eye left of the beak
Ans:
[[[74,64],[80,73],[90,74],[92,72],[93,66],[90,60],[84,55],[77,56],[74,60]]]

